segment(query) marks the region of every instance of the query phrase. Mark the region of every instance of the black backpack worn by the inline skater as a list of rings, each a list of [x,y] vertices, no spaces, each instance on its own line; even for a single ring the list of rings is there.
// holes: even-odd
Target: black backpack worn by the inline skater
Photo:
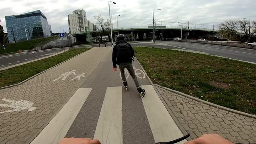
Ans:
[[[121,42],[117,44],[117,59],[118,60],[133,60],[134,61],[134,50],[126,43]]]

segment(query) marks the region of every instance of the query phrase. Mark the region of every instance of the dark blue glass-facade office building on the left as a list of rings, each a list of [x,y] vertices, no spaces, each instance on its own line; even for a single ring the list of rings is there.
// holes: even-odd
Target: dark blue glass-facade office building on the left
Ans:
[[[9,42],[52,36],[46,16],[36,10],[16,16],[5,16]]]

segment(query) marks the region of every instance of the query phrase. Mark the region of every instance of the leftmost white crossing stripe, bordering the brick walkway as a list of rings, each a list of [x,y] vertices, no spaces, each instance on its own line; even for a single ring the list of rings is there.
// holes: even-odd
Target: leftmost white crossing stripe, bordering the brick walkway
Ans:
[[[30,144],[58,144],[66,136],[91,90],[92,88],[79,88]]]

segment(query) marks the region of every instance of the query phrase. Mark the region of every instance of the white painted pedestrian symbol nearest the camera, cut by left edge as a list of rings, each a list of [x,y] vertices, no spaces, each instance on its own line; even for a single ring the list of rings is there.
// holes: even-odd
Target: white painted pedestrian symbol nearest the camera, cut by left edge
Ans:
[[[36,110],[36,107],[33,106],[34,102],[30,102],[27,100],[9,100],[7,98],[2,99],[2,101],[8,102],[8,104],[0,104],[0,107],[9,107],[13,108],[12,110],[4,110],[0,111],[0,114],[2,113],[8,113],[8,112],[16,112],[16,111],[21,111],[21,110],[28,110],[28,111],[33,111]],[[33,107],[32,107],[33,106]]]

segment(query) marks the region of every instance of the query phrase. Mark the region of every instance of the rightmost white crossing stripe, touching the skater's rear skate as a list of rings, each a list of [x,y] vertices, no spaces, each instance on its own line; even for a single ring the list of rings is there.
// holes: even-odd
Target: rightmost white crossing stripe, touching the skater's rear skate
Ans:
[[[142,102],[155,142],[167,142],[182,137],[183,134],[166,110],[153,86],[146,85],[142,88],[146,90],[146,96],[142,98]],[[186,140],[177,144],[184,144],[184,142]]]

